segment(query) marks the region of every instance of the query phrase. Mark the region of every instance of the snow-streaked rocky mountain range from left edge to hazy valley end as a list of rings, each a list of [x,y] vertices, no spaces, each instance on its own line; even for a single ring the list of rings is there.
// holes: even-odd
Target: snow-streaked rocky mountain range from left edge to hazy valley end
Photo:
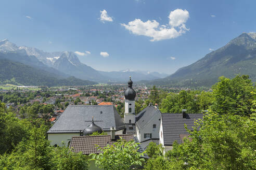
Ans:
[[[158,72],[151,73],[129,69],[119,72],[98,71],[81,63],[74,52],[45,52],[33,47],[18,47],[8,39],[0,41],[0,54],[5,56],[5,59],[47,70],[63,78],[74,76],[79,79],[97,82],[125,82],[129,76],[132,76],[134,81],[152,80],[168,76]]]

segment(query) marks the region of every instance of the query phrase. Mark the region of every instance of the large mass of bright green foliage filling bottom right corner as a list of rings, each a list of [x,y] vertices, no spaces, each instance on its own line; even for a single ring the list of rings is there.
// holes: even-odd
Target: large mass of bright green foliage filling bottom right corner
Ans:
[[[200,131],[197,127],[201,126]],[[255,169],[256,123],[238,115],[209,114],[181,145],[165,156],[186,162],[184,169]]]

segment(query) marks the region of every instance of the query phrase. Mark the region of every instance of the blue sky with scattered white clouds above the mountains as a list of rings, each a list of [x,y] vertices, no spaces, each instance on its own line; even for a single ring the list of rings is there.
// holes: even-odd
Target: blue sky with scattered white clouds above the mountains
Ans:
[[[0,1],[0,39],[47,52],[72,51],[97,70],[178,68],[246,32],[256,1]]]

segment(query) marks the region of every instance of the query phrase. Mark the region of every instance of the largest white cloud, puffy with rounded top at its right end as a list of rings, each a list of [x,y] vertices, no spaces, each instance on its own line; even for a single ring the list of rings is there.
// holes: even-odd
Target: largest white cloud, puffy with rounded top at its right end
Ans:
[[[175,9],[170,12],[169,24],[167,25],[159,26],[156,20],[143,22],[140,19],[135,19],[128,24],[121,25],[135,35],[144,35],[151,37],[150,41],[159,41],[176,38],[188,31],[189,29],[185,25],[188,18],[189,13],[186,9]]]

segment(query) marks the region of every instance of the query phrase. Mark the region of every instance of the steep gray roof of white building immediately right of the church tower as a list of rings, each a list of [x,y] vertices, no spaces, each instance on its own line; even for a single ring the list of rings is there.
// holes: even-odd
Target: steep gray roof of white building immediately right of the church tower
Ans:
[[[148,122],[151,119],[156,118],[155,116],[158,115],[159,119],[161,117],[161,112],[158,108],[156,108],[155,106],[148,106],[145,109],[143,109],[142,111],[139,112],[138,115],[136,115],[136,126],[138,129],[143,129],[144,126],[146,126],[148,124]],[[160,121],[159,121],[160,123]]]

